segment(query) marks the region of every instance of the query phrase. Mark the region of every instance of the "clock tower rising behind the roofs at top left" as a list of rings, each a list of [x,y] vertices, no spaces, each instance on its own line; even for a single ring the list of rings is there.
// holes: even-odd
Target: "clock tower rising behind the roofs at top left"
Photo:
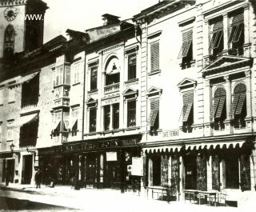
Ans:
[[[11,62],[14,53],[42,46],[44,15],[42,0],[0,0],[0,60]]]

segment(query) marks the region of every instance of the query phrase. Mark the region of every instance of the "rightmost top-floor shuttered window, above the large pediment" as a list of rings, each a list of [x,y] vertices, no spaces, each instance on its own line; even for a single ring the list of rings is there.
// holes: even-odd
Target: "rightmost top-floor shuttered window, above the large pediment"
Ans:
[[[230,16],[229,53],[232,55],[242,55],[244,41],[243,11],[237,11]]]

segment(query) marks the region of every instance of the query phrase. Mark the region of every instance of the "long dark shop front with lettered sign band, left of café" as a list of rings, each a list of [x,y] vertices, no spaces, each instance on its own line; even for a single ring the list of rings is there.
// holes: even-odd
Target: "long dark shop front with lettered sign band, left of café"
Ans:
[[[128,167],[141,156],[137,134],[119,138],[63,143],[38,150],[44,183],[86,188],[125,189],[134,183]]]

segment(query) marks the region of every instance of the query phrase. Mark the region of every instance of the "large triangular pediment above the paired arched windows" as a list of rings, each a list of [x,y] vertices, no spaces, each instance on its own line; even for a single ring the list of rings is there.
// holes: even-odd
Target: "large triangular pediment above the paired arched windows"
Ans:
[[[237,69],[238,67],[242,67],[242,66],[251,66],[251,65],[252,65],[251,58],[242,58],[242,57],[236,57],[236,56],[223,55],[222,57],[212,62],[209,66],[206,66],[202,70],[202,74],[206,76],[210,74],[216,74],[222,71]]]

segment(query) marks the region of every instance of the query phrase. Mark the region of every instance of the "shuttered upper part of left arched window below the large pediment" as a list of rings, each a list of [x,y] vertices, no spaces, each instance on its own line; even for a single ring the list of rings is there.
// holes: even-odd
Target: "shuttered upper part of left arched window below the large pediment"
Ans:
[[[214,102],[210,112],[210,118],[216,121],[226,118],[226,90],[218,87],[214,92]]]

